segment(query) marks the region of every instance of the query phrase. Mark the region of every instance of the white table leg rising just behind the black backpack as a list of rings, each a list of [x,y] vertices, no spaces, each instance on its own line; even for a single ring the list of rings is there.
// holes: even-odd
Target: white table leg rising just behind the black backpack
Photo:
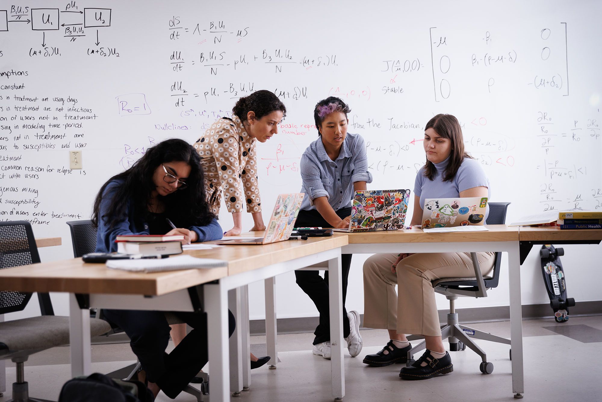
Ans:
[[[69,294],[69,342],[71,376],[92,374],[90,310],[80,309],[75,294]]]

